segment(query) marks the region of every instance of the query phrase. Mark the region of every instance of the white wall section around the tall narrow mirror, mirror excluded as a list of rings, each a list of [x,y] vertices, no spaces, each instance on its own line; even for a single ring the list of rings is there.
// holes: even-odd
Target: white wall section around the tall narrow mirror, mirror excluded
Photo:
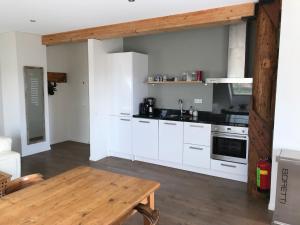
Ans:
[[[13,149],[22,156],[49,150],[46,48],[41,36],[19,32],[0,35],[0,63],[4,135],[13,138]],[[44,68],[46,139],[31,145],[27,145],[24,66]]]

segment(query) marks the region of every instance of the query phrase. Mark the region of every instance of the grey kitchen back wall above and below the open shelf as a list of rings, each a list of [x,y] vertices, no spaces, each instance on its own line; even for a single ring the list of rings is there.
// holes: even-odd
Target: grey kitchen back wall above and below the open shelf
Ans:
[[[131,37],[124,39],[125,51],[149,55],[149,75],[181,75],[184,71],[203,70],[204,77],[224,77],[227,71],[228,26],[186,30]],[[202,98],[198,110],[212,110],[212,86],[157,85],[149,86],[149,95],[157,98],[157,106],[178,108],[177,100],[184,100],[184,108],[193,105],[194,98]]]

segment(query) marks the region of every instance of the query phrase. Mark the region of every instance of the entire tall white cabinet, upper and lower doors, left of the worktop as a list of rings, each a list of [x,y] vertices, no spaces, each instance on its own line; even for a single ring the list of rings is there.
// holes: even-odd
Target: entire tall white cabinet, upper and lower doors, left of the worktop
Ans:
[[[108,54],[109,143],[112,156],[132,159],[132,115],[147,97],[148,56],[135,52]]]

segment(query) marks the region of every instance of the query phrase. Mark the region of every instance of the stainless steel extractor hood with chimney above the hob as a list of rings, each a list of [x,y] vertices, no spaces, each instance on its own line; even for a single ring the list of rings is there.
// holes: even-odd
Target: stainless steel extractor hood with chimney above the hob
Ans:
[[[227,77],[207,78],[206,83],[251,84],[252,78],[245,78],[247,23],[229,26]]]

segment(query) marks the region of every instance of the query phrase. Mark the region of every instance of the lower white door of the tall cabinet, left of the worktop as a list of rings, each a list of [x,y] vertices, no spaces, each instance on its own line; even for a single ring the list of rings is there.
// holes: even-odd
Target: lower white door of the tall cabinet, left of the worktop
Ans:
[[[110,116],[109,151],[132,155],[132,128],[130,117]]]

